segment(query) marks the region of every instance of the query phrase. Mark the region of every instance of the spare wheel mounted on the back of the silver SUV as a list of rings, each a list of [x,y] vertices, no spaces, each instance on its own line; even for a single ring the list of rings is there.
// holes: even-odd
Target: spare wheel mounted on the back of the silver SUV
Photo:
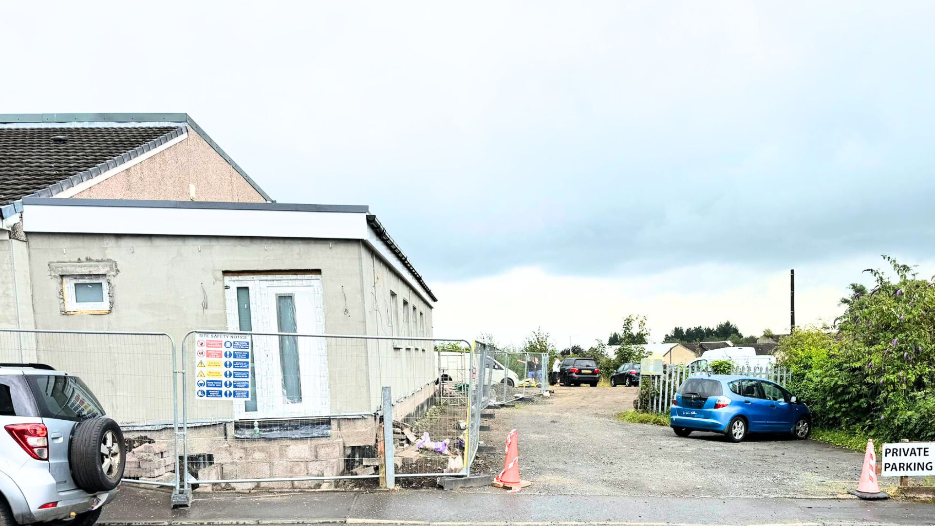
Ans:
[[[68,457],[72,478],[80,489],[97,493],[116,488],[126,459],[120,426],[105,417],[79,422]]]

